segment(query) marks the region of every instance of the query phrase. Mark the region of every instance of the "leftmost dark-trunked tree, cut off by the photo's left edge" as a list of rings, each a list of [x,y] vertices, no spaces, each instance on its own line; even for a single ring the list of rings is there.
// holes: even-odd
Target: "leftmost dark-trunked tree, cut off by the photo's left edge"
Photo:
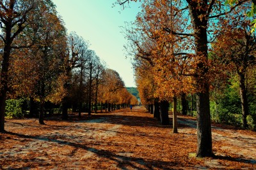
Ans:
[[[18,1],[4,0],[0,1],[0,38],[3,40],[3,60],[1,62],[0,77],[0,131],[4,131],[4,112],[6,94],[8,92],[9,67],[13,41],[28,26],[28,15],[33,13],[37,1]],[[26,44],[25,44],[26,45]]]

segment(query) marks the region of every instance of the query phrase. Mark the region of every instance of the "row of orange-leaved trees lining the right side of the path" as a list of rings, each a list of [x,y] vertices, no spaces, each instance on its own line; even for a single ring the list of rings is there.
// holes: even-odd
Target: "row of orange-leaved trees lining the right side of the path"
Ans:
[[[118,2],[124,5],[129,1]],[[173,101],[173,132],[177,132],[177,97],[186,108],[186,96],[196,94],[197,157],[213,155],[212,90],[221,94],[235,74],[243,126],[248,127],[248,82],[255,76],[255,33],[245,15],[251,2],[227,4],[217,0],[145,0],[136,21],[125,28],[127,50],[135,56],[141,101],[154,104],[148,109],[156,111],[162,124],[169,123],[168,103]],[[250,87],[254,89],[255,83]]]

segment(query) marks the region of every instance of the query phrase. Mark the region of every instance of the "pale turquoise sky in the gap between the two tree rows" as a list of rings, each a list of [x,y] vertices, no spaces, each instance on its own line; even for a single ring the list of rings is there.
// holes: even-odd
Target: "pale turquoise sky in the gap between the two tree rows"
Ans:
[[[116,0],[52,0],[68,32],[75,31],[90,42],[100,59],[109,69],[114,69],[126,87],[136,87],[132,69],[132,56],[127,56],[127,42],[120,26],[136,19],[140,3],[129,3],[122,8]]]

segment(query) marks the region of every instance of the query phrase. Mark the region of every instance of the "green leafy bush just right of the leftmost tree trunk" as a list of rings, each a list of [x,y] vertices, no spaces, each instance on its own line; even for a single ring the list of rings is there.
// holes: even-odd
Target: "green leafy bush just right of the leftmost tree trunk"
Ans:
[[[8,99],[6,100],[5,116],[8,118],[23,118],[26,111],[23,110],[24,99]]]

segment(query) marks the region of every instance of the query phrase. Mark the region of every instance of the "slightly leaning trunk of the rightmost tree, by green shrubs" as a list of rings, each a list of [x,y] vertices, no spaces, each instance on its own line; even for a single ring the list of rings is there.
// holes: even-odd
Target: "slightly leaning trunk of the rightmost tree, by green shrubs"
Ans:
[[[247,123],[246,117],[249,115],[249,108],[248,108],[248,99],[247,99],[247,92],[245,87],[244,74],[239,74],[239,90],[240,90],[240,99],[241,99],[241,105],[242,105],[243,127],[244,129],[248,129],[248,123]]]

